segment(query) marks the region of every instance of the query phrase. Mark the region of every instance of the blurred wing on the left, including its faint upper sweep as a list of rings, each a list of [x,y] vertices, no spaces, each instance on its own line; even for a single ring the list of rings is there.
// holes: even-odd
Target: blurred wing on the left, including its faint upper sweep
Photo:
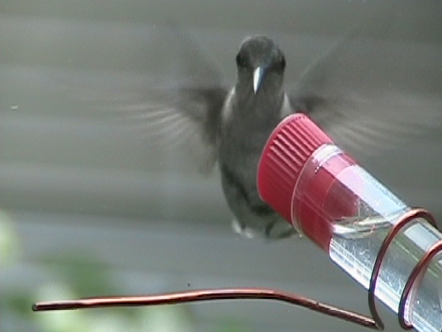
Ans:
[[[216,161],[216,133],[227,89],[216,62],[189,33],[157,28],[149,39],[158,64],[155,80],[144,86],[141,102],[120,109],[124,124],[144,140],[192,158],[202,173]],[[150,55],[149,55],[150,56]]]

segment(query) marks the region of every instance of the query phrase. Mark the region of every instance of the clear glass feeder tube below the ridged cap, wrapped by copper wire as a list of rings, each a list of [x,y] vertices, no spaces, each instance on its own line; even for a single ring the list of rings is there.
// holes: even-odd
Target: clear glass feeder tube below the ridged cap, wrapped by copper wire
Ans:
[[[366,289],[383,239],[408,210],[335,145],[323,145],[312,154],[294,194],[297,227],[327,249],[332,261]],[[441,239],[442,234],[423,218],[410,221],[394,237],[374,293],[395,313],[412,269]],[[441,254],[432,259],[405,306],[405,321],[421,332],[442,329],[441,259]]]

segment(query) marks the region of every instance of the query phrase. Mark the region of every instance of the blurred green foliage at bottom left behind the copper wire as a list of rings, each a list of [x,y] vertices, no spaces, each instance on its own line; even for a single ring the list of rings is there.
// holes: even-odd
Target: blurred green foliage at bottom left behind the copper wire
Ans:
[[[0,284],[0,331],[41,332],[190,332],[202,331],[194,322],[192,305],[153,306],[151,308],[94,308],[78,311],[34,313],[32,302],[73,299],[95,295],[117,295],[122,287],[111,277],[110,266],[91,252],[68,250],[49,255],[23,257],[19,233],[12,218],[0,211],[0,278],[8,269],[24,270],[26,280],[39,286],[5,287]],[[41,270],[46,282],[35,282],[32,268]],[[0,279],[1,280],[1,279]],[[204,330],[206,331],[206,329]],[[220,320],[213,332],[247,332],[240,323]]]

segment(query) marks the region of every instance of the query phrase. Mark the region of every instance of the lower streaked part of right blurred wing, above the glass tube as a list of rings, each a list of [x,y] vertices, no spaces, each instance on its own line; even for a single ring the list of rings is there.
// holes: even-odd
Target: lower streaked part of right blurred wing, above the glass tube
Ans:
[[[429,133],[442,139],[442,100],[394,93],[374,100],[316,99],[309,116],[352,154],[375,156]],[[306,107],[308,109],[308,107]]]

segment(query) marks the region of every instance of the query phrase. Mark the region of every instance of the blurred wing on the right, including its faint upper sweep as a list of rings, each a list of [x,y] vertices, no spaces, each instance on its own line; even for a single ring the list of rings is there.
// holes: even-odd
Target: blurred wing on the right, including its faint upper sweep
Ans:
[[[338,145],[376,155],[442,128],[441,49],[404,42],[400,27],[372,22],[332,45],[292,93]]]

